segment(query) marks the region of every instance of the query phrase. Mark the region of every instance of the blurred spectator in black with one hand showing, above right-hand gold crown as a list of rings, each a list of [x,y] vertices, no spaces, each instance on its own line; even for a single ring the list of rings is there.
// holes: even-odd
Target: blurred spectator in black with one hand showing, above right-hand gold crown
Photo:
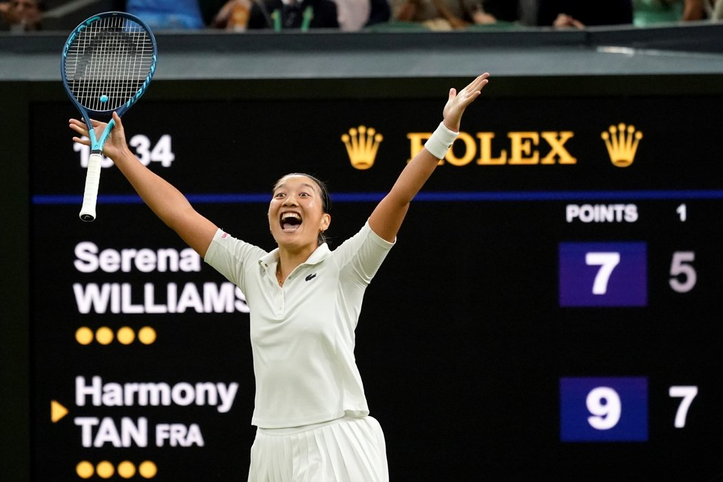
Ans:
[[[538,0],[537,25],[583,28],[633,23],[633,0]]]

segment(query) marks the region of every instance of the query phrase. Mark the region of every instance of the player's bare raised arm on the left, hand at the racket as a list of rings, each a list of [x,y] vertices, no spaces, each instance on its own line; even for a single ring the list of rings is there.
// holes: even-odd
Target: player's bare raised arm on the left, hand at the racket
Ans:
[[[158,215],[158,218],[176,231],[201,257],[205,257],[218,227],[194,210],[181,191],[140,163],[126,144],[120,117],[114,113],[113,119],[115,126],[103,146],[103,154],[113,160],[143,202]],[[90,145],[84,122],[70,119],[69,126],[80,136],[85,136],[85,139],[73,137],[74,142]],[[106,124],[102,122],[93,121],[93,129],[97,134],[103,132],[105,126]]]

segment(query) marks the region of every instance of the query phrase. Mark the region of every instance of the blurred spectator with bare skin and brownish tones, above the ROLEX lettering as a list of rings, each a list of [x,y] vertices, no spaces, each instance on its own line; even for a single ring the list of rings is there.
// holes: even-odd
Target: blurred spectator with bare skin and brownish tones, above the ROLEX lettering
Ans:
[[[495,23],[480,0],[404,0],[395,7],[395,20],[420,22],[432,30],[453,30],[471,24]]]

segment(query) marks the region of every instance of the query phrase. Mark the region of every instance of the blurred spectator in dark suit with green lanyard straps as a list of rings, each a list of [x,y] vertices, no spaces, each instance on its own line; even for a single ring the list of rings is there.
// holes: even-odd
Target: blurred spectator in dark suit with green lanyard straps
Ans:
[[[229,0],[234,4],[239,0]],[[216,15],[213,25],[226,28],[231,14],[228,4]],[[232,12],[232,10],[231,10]],[[247,28],[286,29],[338,28],[338,10],[332,0],[252,0]]]

